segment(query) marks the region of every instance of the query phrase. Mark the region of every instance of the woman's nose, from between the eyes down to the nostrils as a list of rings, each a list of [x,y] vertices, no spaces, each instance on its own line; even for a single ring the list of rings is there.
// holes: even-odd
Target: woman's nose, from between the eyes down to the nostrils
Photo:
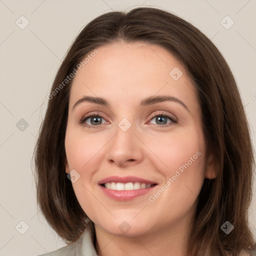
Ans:
[[[122,124],[120,122],[119,126],[116,126],[116,132],[108,143],[106,155],[109,162],[115,163],[119,167],[137,164],[143,158],[142,139],[140,138],[140,140],[139,135],[135,134],[137,132],[134,131],[133,125],[125,130],[121,126]]]

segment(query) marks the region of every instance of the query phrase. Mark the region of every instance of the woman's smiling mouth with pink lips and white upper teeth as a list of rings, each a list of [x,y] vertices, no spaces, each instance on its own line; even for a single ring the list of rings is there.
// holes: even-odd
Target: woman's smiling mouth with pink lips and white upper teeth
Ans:
[[[114,200],[131,200],[152,190],[157,182],[135,176],[111,176],[98,182],[105,195]]]

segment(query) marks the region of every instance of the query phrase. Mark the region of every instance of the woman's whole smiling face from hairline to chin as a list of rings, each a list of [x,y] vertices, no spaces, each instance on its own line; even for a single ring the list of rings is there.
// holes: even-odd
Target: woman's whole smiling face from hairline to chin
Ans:
[[[204,178],[214,177],[192,81],[158,45],[97,49],[70,90],[65,151],[75,195],[95,226],[114,235],[178,227]]]

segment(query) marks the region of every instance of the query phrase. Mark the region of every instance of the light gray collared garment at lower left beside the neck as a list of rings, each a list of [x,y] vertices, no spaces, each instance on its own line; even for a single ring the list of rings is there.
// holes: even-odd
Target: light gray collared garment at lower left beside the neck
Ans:
[[[38,256],[96,256],[93,236],[94,224],[89,222],[76,242]]]

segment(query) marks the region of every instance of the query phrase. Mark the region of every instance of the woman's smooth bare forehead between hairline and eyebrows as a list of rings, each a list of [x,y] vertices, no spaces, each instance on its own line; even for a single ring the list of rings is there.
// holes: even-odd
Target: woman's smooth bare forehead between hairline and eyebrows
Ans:
[[[97,54],[89,56],[86,64],[77,69],[70,104],[84,95],[109,99],[110,104],[116,101],[135,104],[155,94],[182,98],[188,105],[197,103],[195,88],[185,68],[161,46],[118,42],[97,50]]]

